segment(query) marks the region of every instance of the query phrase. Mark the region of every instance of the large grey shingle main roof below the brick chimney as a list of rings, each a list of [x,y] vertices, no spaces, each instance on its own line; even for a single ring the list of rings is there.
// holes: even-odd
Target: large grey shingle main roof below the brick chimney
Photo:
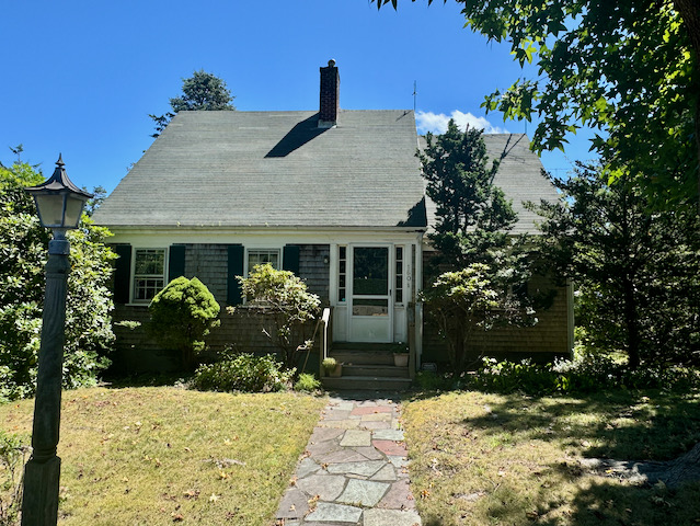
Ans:
[[[181,112],[95,211],[100,225],[425,227],[412,111]]]

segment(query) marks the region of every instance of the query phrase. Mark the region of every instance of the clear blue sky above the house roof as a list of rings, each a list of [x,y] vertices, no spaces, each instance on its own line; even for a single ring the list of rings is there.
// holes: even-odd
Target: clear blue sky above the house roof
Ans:
[[[61,152],[76,184],[107,191],[151,145],[148,114],[165,113],[195,70],[223,79],[241,111],[317,110],[319,67],[334,58],[345,110],[413,108],[415,81],[420,132],[455,115],[524,133],[480,105],[536,75],[464,28],[455,3],[378,12],[368,0],[22,0],[3,2],[2,18],[0,162],[22,144],[22,160],[49,175]],[[588,146],[574,137],[542,162],[564,175],[592,157]]]

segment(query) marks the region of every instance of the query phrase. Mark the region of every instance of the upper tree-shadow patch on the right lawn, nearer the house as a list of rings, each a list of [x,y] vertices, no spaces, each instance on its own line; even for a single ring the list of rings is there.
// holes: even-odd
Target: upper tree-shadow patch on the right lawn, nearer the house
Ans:
[[[520,395],[464,425],[519,439],[569,439],[589,458],[669,460],[700,442],[700,403],[684,393],[612,391],[578,398]],[[569,444],[567,444],[569,445]]]

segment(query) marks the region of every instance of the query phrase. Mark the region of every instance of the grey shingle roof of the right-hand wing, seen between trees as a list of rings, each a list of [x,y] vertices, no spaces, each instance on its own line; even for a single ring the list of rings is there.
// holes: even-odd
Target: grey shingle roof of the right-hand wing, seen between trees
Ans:
[[[555,202],[559,197],[552,183],[542,175],[540,158],[530,150],[530,139],[525,134],[483,134],[489,159],[501,159],[493,184],[501,187],[507,199],[512,199],[518,220],[513,233],[538,233],[537,222],[542,217],[527,210],[523,203],[539,204],[541,199]],[[425,137],[420,138],[421,149]],[[490,164],[490,163],[489,163]],[[428,224],[435,224],[436,206],[429,198],[426,203]]]

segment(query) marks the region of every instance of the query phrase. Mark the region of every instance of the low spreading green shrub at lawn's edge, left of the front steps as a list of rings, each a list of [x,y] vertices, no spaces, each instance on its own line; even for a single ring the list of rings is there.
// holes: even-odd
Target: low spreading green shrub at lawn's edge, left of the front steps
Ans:
[[[199,366],[193,385],[208,391],[283,391],[291,382],[295,371],[285,370],[271,354],[255,356],[242,353],[230,359]]]

